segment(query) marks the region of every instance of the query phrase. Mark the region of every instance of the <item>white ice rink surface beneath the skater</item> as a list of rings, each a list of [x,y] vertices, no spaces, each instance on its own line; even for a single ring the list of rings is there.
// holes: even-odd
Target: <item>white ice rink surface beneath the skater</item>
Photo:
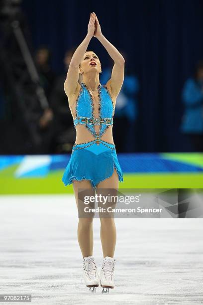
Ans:
[[[108,295],[101,287],[92,294],[82,277],[74,197],[1,196],[0,294],[31,294],[31,304],[40,305],[203,304],[202,218],[115,223],[115,288]],[[100,270],[98,218],[94,233]]]

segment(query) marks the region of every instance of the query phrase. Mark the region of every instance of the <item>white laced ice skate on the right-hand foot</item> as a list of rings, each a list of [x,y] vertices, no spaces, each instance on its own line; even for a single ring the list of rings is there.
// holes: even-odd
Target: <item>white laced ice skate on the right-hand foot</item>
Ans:
[[[101,269],[101,286],[103,287],[103,293],[109,293],[109,288],[114,288],[114,266],[115,259],[106,256],[102,262]]]

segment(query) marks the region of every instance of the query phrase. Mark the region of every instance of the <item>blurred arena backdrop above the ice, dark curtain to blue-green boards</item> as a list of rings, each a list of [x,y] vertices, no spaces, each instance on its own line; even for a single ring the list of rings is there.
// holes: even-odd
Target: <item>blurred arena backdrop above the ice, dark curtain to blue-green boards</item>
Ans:
[[[202,187],[202,0],[0,0],[0,192],[72,191],[63,84],[92,11],[125,58],[113,124],[124,187]],[[88,48],[105,84],[113,62],[97,38]]]

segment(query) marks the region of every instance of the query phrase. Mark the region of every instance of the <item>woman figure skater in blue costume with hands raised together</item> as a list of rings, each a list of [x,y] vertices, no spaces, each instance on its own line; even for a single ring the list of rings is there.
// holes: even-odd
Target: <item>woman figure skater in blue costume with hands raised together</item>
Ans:
[[[97,37],[114,61],[111,78],[105,85],[100,83],[101,62],[93,51],[87,51],[92,37]],[[88,33],[72,56],[64,90],[76,128],[76,141],[62,181],[73,184],[77,207],[79,189],[103,194],[104,189],[118,190],[123,173],[117,159],[112,137],[113,115],[116,97],[124,80],[124,58],[103,36],[96,14],[93,12]],[[82,82],[79,84],[79,74]],[[114,193],[115,195],[115,193]],[[98,203],[99,206],[99,203]],[[78,241],[83,256],[84,279],[87,287],[99,284],[108,292],[114,287],[114,250],[116,228],[113,217],[101,217],[101,241],[103,251],[99,277],[93,257],[93,218],[81,217],[78,223]]]

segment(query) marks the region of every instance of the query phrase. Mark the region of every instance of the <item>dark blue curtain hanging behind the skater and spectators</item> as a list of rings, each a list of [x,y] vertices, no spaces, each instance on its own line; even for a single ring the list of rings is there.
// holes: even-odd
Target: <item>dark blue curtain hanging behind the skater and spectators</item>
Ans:
[[[181,92],[198,59],[203,58],[202,0],[24,0],[33,44],[45,44],[53,68],[63,71],[65,50],[87,34],[90,12],[98,15],[104,36],[127,54],[126,66],[140,82],[136,151],[184,152],[180,133]],[[93,37],[89,48],[108,65],[108,53]]]

